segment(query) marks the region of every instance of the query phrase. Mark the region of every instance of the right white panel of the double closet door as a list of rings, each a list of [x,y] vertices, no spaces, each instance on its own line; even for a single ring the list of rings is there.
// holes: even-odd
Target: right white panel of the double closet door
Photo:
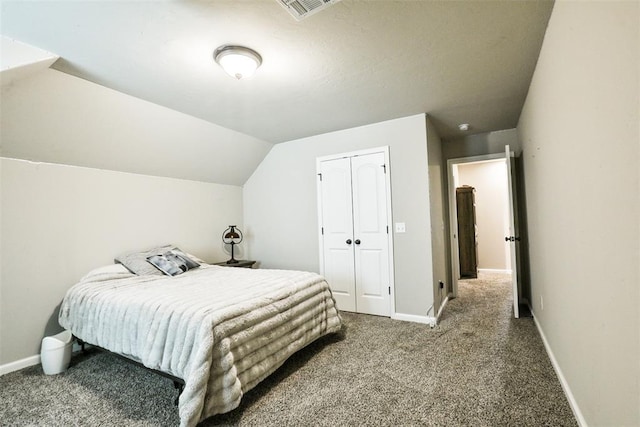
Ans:
[[[390,315],[389,234],[384,153],[351,158],[356,308]]]

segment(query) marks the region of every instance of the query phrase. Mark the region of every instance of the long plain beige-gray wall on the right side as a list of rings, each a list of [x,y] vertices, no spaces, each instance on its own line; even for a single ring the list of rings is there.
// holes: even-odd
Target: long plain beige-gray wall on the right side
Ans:
[[[537,322],[583,425],[640,425],[638,2],[556,2],[518,124]]]

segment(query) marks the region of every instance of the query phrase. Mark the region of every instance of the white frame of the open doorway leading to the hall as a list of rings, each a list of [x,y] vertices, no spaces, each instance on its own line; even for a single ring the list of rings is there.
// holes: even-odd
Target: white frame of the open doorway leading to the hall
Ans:
[[[505,160],[504,153],[484,154],[481,156],[459,157],[447,160],[447,196],[449,200],[449,241],[451,242],[451,294],[452,298],[458,296],[458,280],[460,278],[460,259],[458,258],[458,210],[456,207],[456,185],[454,181],[454,169],[465,163],[478,163],[492,160]],[[506,176],[505,176],[506,179]]]

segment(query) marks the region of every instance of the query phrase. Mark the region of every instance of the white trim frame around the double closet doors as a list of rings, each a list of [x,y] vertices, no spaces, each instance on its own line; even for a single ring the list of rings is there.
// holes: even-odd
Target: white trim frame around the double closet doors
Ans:
[[[384,153],[384,164],[386,165],[386,173],[384,176],[386,193],[387,193],[387,244],[388,244],[388,254],[389,254],[389,315],[393,318],[396,314],[396,292],[395,292],[395,269],[394,269],[394,259],[393,259],[393,209],[391,207],[391,163],[389,161],[389,146],[385,145],[382,147],[376,148],[368,148],[364,150],[350,151],[347,153],[339,153],[339,154],[330,154],[327,156],[317,157],[316,158],[316,200],[317,200],[317,211],[318,211],[318,251],[320,257],[320,274],[324,275],[324,239],[322,234],[322,225],[320,219],[322,218],[322,191],[320,189],[320,179],[318,179],[318,175],[320,174],[320,163],[327,160],[336,160],[342,159],[346,157],[356,157],[356,156],[364,156],[367,154],[374,153]],[[331,285],[331,284],[329,284]]]

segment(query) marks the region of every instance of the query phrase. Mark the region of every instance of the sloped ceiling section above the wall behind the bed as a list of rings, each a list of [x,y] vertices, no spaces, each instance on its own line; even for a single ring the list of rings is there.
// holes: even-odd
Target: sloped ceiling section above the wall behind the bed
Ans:
[[[2,49],[3,64],[21,62],[14,51]],[[6,72],[3,157],[243,185],[272,147],[59,71],[5,81]]]

